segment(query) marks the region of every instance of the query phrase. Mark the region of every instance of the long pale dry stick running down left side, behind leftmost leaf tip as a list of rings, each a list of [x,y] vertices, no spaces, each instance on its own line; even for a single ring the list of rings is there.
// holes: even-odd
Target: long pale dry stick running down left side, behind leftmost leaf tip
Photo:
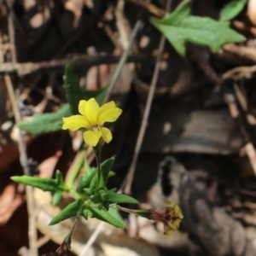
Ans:
[[[12,104],[13,112],[15,114],[15,122],[20,121],[20,111],[18,108],[17,101],[15,99],[15,91],[13,89],[13,84],[8,74],[4,75],[5,84],[7,86],[7,90],[9,92],[10,102]],[[18,147],[20,151],[20,165],[23,168],[23,172],[26,175],[29,175],[29,165],[28,159],[26,155],[26,144],[24,143],[24,139],[22,137],[22,133],[19,128],[18,129]],[[28,239],[29,239],[29,251],[32,256],[38,255],[38,233],[37,233],[37,225],[36,225],[36,215],[35,215],[35,203],[33,198],[33,190],[32,187],[26,186],[26,205],[28,212]]]

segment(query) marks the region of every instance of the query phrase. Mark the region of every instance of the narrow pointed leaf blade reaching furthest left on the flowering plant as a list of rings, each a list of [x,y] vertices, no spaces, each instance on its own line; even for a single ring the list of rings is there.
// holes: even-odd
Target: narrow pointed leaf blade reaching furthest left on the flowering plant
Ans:
[[[15,176],[11,177],[16,183],[26,184],[44,191],[55,192],[58,186],[53,178],[50,177],[31,177],[31,176]]]

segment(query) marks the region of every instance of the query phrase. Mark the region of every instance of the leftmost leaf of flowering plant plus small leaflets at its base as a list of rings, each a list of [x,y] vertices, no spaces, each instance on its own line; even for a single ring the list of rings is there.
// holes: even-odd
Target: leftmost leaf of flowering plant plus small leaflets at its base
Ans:
[[[23,183],[43,191],[54,192],[53,205],[56,205],[60,199],[63,191],[68,191],[67,186],[63,182],[62,173],[60,171],[56,172],[56,178],[51,177],[31,177],[31,176],[15,176],[11,177],[16,183]]]

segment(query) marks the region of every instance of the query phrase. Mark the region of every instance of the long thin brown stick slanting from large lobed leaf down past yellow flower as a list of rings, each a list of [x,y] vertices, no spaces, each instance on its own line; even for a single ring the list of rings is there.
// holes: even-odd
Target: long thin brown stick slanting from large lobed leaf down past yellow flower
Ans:
[[[170,6],[171,6],[171,0],[168,0],[166,3],[166,9],[168,12],[170,11]],[[128,195],[131,194],[131,183],[132,183],[134,172],[135,172],[135,169],[137,166],[138,155],[140,153],[140,150],[141,150],[141,147],[143,144],[143,137],[145,135],[146,127],[148,125],[148,116],[150,113],[150,108],[151,108],[151,104],[152,104],[153,97],[154,97],[154,90],[155,90],[156,82],[157,82],[157,79],[158,79],[158,76],[160,73],[160,61],[161,61],[162,52],[165,47],[165,43],[166,43],[166,38],[164,35],[162,35],[160,38],[159,53],[157,56],[155,67],[154,67],[154,74],[153,74],[153,79],[150,84],[146,108],[143,113],[143,122],[142,122],[142,125],[140,128],[140,131],[139,131],[139,135],[137,137],[137,143],[136,143],[136,147],[134,150],[133,158],[131,160],[131,166],[129,168],[129,172],[127,173],[127,176],[125,177],[125,182],[122,184],[122,187],[125,184],[124,192],[125,192],[125,194],[128,194]],[[123,189],[122,187],[121,187],[121,189]]]

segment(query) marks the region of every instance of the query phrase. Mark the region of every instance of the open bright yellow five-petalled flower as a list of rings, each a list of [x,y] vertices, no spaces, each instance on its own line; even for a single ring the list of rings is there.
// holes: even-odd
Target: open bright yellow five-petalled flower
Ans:
[[[63,118],[63,130],[77,131],[80,128],[85,128],[84,142],[93,147],[102,138],[106,143],[112,140],[111,131],[103,127],[106,122],[114,122],[122,113],[120,108],[117,108],[114,102],[108,102],[100,108],[95,98],[89,101],[79,102],[79,114],[68,118]]]

